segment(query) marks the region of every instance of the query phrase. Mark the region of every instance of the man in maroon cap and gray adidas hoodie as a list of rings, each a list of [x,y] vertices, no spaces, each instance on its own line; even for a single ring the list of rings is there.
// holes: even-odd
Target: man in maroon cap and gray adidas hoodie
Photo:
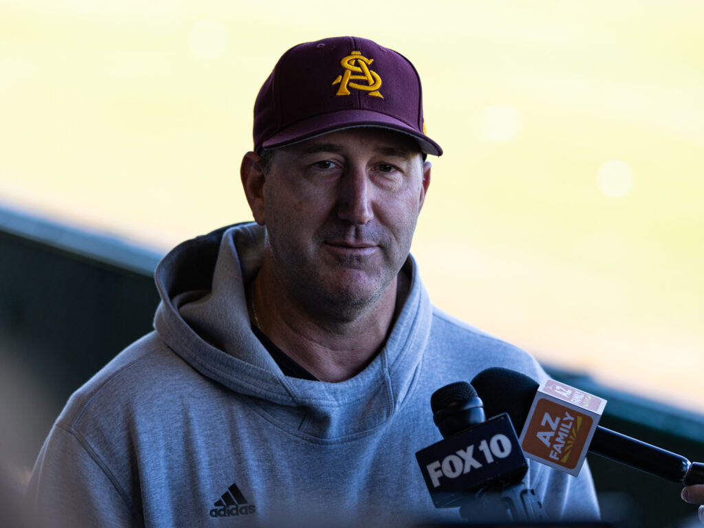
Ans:
[[[256,223],[156,270],[155,332],[72,396],[27,497],[46,524],[411,526],[431,394],[489,366],[545,377],[434,308],[409,249],[430,182],[420,79],[366,39],[287,51],[241,180]],[[598,517],[589,470],[531,464],[553,518]]]

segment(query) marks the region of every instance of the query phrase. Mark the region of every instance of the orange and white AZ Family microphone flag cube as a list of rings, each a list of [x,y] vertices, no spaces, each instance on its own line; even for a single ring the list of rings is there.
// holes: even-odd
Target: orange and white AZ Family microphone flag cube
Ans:
[[[546,379],[521,432],[523,453],[577,477],[605,406],[603,398]]]

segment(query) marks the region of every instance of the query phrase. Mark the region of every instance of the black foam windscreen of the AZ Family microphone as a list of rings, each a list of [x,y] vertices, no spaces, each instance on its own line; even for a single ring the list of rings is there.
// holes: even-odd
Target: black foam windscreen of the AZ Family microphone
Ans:
[[[540,386],[532,377],[503,367],[491,367],[472,379],[484,402],[486,416],[508,413],[516,431],[523,429],[535,393]]]

